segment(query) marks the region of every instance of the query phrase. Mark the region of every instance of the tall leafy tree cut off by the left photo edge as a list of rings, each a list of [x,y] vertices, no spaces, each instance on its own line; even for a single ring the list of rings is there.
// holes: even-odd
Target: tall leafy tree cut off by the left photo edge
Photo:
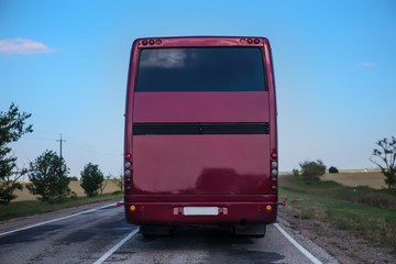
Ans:
[[[15,189],[22,189],[18,182],[28,169],[16,167],[16,157],[10,155],[11,147],[8,144],[16,142],[25,133],[33,132],[32,124],[25,125],[25,120],[32,114],[20,112],[14,103],[11,103],[8,112],[0,112],[0,204],[8,205],[15,199]]]

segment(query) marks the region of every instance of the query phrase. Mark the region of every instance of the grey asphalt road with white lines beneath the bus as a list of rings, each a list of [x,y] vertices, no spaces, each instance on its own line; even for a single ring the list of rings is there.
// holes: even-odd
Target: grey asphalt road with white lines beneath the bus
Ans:
[[[0,263],[312,263],[273,224],[264,239],[213,228],[177,229],[173,237],[145,239],[131,234],[136,229],[125,222],[122,208],[102,208],[0,234]],[[322,263],[334,263],[322,250],[308,249],[315,246],[305,245],[321,252],[316,257]]]

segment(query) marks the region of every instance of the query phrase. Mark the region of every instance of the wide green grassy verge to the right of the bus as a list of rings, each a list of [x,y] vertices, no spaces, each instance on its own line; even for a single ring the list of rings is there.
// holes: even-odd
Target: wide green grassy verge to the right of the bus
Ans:
[[[396,195],[334,182],[308,185],[295,176],[279,177],[279,200],[290,205],[296,218],[330,222],[396,253]]]

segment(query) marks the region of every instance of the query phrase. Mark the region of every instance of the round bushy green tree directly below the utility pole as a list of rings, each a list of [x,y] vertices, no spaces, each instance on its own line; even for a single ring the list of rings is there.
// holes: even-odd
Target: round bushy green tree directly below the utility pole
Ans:
[[[70,194],[68,170],[64,158],[55,152],[45,151],[30,163],[31,184],[26,185],[26,188],[33,195],[40,195],[43,202],[65,198]]]

